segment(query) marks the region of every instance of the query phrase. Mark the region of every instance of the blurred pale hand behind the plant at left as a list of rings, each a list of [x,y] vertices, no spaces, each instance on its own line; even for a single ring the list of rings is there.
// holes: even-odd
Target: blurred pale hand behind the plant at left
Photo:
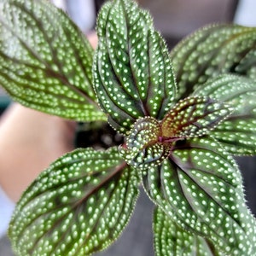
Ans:
[[[73,150],[75,123],[14,103],[0,120],[0,184],[13,201],[62,154]]]

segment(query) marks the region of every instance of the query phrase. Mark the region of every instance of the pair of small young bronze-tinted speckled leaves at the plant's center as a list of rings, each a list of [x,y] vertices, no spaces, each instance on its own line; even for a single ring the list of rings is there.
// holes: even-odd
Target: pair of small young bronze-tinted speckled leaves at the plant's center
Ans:
[[[120,154],[134,167],[158,166],[171,153],[175,142],[208,134],[231,111],[228,104],[207,96],[185,98],[161,121],[153,117],[137,119],[120,147]]]

